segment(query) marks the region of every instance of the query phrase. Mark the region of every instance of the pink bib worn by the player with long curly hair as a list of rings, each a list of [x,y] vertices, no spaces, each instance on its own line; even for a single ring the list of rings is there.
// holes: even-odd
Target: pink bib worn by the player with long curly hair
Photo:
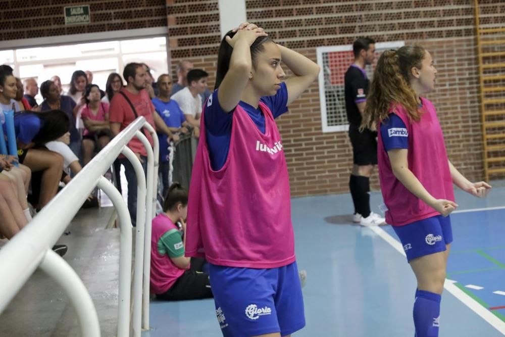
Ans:
[[[419,122],[411,121],[405,108],[400,105],[391,109],[391,113],[400,117],[407,126],[409,169],[434,198],[454,201],[442,128],[433,104],[424,98],[421,100],[423,107],[420,109],[423,112]],[[382,197],[388,208],[386,222],[393,226],[401,226],[439,215],[440,213],[413,195],[394,176],[381,132],[377,140],[379,181]]]

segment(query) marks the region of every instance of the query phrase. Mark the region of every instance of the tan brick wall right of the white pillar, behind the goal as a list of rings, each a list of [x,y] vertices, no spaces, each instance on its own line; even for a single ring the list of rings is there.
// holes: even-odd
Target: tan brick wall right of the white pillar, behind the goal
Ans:
[[[505,4],[482,2],[481,20],[505,26]],[[278,43],[315,60],[315,47],[350,44],[358,36],[377,42],[421,43],[438,69],[429,95],[439,113],[451,161],[481,179],[482,133],[473,1],[247,0],[247,18]],[[294,196],[348,191],[352,164],[346,132],[322,133],[318,85],[290,106],[278,125]],[[377,175],[373,185],[377,185]]]

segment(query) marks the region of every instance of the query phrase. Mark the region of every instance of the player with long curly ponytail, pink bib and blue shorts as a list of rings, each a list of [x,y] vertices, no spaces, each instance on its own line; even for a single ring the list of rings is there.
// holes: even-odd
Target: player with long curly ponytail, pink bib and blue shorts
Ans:
[[[436,69],[422,46],[385,51],[377,63],[362,127],[379,126],[379,180],[388,211],[417,278],[416,337],[438,336],[440,299],[455,203],[452,183],[483,198],[491,188],[472,183],[448,160],[433,104]]]

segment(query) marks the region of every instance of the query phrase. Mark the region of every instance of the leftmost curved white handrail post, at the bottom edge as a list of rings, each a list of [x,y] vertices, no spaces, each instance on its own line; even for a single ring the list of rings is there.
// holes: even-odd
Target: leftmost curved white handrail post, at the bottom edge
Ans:
[[[51,249],[45,253],[39,268],[67,293],[79,320],[81,336],[100,337],[100,325],[93,301],[74,269]]]

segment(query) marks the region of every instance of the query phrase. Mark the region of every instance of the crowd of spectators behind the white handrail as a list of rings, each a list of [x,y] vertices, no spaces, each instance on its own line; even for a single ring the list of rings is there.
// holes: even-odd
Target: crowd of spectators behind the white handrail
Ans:
[[[177,83],[162,74],[157,79],[145,63],[129,63],[122,76],[111,73],[106,87],[93,83],[90,71],[76,70],[70,88],[63,91],[58,75],[51,79],[15,76],[8,65],[0,66],[0,122],[6,132],[4,111],[14,111],[17,156],[0,155],[0,235],[10,239],[54,198],[82,166],[138,116],[143,116],[158,133],[163,196],[172,183],[168,179],[170,142],[180,135],[199,136],[199,117],[205,99],[208,74],[192,69],[188,61],[177,65]],[[36,100],[38,93],[42,101]],[[177,94],[176,94],[177,93]],[[151,145],[153,140],[143,130]],[[8,141],[7,137],[5,139]],[[137,138],[128,143],[146,170],[146,152]],[[128,208],[136,223],[136,176],[124,157],[113,165],[121,190],[120,167],[128,183]],[[88,201],[93,203],[91,195]],[[55,246],[65,254],[67,247]]]

